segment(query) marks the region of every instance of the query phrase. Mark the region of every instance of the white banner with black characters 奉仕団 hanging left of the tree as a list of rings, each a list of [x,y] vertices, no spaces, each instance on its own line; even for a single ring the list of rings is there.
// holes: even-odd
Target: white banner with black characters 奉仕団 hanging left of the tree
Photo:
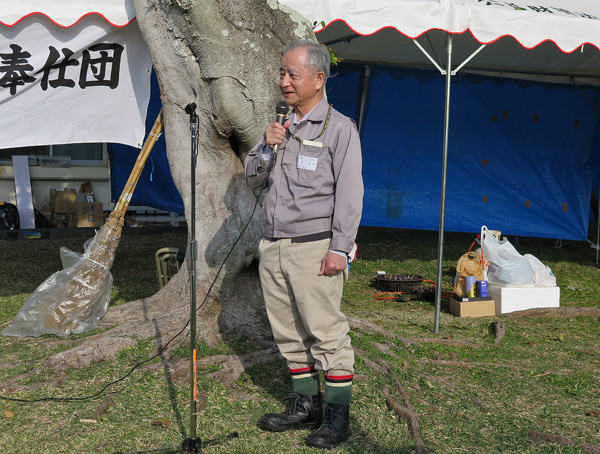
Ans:
[[[152,63],[134,20],[46,17],[0,26],[0,148],[116,142],[141,147]]]

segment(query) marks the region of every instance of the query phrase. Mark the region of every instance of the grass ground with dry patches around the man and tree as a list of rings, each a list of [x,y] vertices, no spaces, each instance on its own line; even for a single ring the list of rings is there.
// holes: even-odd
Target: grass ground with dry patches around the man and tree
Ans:
[[[446,234],[444,288],[450,288],[456,262],[473,238]],[[0,324],[10,322],[35,288],[60,269],[61,246],[82,251],[86,239],[0,242]],[[516,242],[514,237],[510,240]],[[111,304],[154,294],[158,290],[154,252],[159,247],[184,247],[186,241],[184,233],[162,230],[124,235],[113,266]],[[440,331],[434,334],[431,302],[375,299],[379,290],[371,279],[385,270],[435,280],[437,233],[361,228],[357,242],[359,258],[352,264],[343,308],[348,316],[365,319],[377,329],[352,332],[353,344],[361,351],[352,437],[332,452],[411,453],[414,439],[406,421],[386,405],[386,392],[406,405],[397,383],[420,417],[421,435],[430,452],[599,452],[593,451],[600,449],[599,319],[458,318],[447,312],[443,301]],[[555,240],[518,238],[521,253],[535,255],[555,273],[561,306],[600,307],[595,252],[585,242],[556,246]],[[494,342],[488,332],[492,321],[506,324],[501,342]],[[201,345],[200,351],[204,356],[234,353],[238,348],[233,341],[210,348]],[[13,380],[17,388],[41,383],[9,397],[94,394],[152,349],[150,342],[140,341],[114,361],[70,370],[59,387],[45,386],[56,375],[44,367],[44,359],[74,342],[77,339],[55,341],[49,336],[0,337],[0,383]],[[374,364],[383,363],[390,369],[378,373]],[[290,382],[282,360],[274,358],[248,370],[231,387],[207,377],[214,367],[199,374],[197,434],[203,452],[314,452],[304,446],[306,431],[276,434],[256,426],[260,415],[279,411],[287,398]],[[0,452],[112,453],[178,446],[189,436],[189,421],[187,379],[173,378],[163,368],[138,370],[92,399],[0,400]],[[233,432],[239,437],[229,439]]]

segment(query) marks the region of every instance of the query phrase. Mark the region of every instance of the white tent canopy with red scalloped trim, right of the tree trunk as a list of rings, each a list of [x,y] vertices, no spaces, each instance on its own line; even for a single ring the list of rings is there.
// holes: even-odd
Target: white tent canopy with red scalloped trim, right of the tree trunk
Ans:
[[[471,72],[598,84],[600,4],[589,0],[282,0],[317,22],[317,38],[347,62],[431,67],[418,41],[438,64],[447,33],[453,61]],[[320,24],[326,25],[323,28]],[[440,54],[441,53],[441,54]],[[524,75],[527,74],[527,75]],[[550,78],[550,79],[548,79]]]

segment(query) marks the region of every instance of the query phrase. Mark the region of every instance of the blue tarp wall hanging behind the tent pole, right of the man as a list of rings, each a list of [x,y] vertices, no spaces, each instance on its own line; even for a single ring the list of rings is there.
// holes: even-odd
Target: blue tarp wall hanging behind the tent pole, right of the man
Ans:
[[[330,102],[358,118],[365,66],[333,72]],[[382,65],[369,76],[362,224],[437,229],[444,80]],[[600,89],[463,74],[452,93],[446,230],[585,240]]]

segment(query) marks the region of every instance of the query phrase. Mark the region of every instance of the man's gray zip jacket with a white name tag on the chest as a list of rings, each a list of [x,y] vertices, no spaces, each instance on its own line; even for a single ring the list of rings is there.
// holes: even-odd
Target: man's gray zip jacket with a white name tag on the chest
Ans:
[[[349,253],[362,212],[360,139],[352,120],[333,108],[328,119],[328,112],[322,99],[307,120],[290,126],[279,146],[269,174],[265,236],[296,238],[331,231],[329,249]],[[263,135],[246,157],[250,187],[265,184],[271,157]]]

